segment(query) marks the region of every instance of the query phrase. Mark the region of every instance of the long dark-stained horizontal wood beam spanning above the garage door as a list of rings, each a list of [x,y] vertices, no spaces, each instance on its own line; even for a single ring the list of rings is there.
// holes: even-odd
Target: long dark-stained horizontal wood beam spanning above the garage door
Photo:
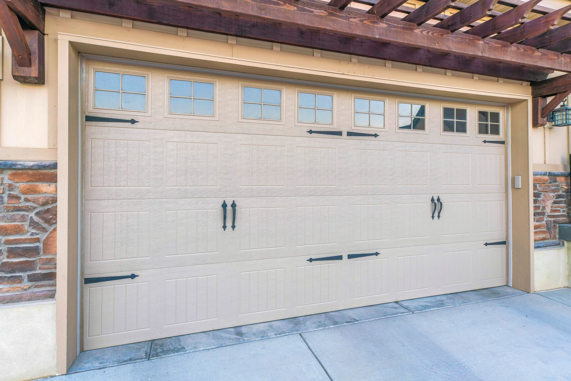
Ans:
[[[505,69],[534,68],[533,76],[553,70],[571,71],[571,57],[532,47],[510,45],[502,41],[481,39],[464,33],[415,26],[389,18],[379,19],[364,12],[336,10],[327,3],[305,0],[42,0],[42,5],[152,22],[161,25],[221,33],[290,45],[337,51],[346,54],[388,58],[382,51],[387,44],[424,49],[424,51],[452,54],[470,58],[485,71],[486,63],[506,64]],[[368,50],[362,49],[367,46]],[[408,57],[406,61],[436,61],[436,56]],[[394,59],[399,61],[399,59]],[[445,62],[447,69],[475,73],[471,67]],[[443,66],[440,66],[443,67]],[[491,70],[488,70],[490,73]],[[507,71],[509,74],[509,70]],[[502,78],[504,71],[494,75]],[[545,78],[545,77],[544,77]],[[536,79],[537,80],[537,79]]]

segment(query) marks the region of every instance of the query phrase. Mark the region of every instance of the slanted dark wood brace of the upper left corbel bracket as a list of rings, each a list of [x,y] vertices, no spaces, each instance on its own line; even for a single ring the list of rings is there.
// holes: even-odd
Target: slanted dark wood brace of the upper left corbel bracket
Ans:
[[[12,49],[15,62],[18,63],[18,66],[31,67],[32,54],[18,15],[3,0],[0,0],[0,24]]]

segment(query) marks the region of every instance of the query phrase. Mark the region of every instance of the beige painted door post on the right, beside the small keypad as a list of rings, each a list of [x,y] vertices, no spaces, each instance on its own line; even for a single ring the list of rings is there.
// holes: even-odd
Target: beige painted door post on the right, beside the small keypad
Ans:
[[[521,189],[512,187],[512,285],[533,292],[533,168],[530,136],[531,99],[510,106],[512,177],[521,176]]]

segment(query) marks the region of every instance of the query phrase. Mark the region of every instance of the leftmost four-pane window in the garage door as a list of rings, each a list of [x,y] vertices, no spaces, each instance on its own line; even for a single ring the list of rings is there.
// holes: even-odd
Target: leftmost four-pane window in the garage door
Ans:
[[[94,108],[147,111],[147,77],[95,71]]]

